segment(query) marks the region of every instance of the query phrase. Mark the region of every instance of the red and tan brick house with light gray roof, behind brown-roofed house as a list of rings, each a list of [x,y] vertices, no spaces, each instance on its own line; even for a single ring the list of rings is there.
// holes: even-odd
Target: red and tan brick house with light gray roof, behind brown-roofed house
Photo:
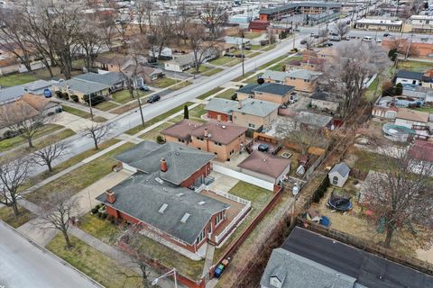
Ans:
[[[231,121],[236,125],[242,125],[252,129],[268,129],[278,117],[277,103],[244,99],[233,101],[221,98],[213,98],[207,103],[207,118],[217,121]]]

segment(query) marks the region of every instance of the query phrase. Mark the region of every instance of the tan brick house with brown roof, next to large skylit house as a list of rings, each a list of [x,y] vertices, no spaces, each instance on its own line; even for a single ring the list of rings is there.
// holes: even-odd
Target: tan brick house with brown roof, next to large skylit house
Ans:
[[[162,130],[161,134],[166,141],[181,142],[189,147],[214,153],[218,159],[226,161],[244,149],[246,130],[246,127],[232,123],[199,123],[184,119]]]

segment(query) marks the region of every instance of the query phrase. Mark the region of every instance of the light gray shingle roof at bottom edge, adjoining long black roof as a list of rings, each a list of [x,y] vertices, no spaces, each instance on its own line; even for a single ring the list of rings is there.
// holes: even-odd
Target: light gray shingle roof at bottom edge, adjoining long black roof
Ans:
[[[281,288],[354,288],[356,279],[300,257],[283,248],[273,249],[260,284],[275,288],[271,278],[281,282]]]

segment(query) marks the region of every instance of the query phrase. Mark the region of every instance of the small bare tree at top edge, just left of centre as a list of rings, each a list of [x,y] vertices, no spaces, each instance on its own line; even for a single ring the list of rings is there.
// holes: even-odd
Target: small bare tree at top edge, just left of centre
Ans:
[[[214,3],[204,4],[199,17],[214,40],[221,36],[221,29],[228,20],[226,8]]]

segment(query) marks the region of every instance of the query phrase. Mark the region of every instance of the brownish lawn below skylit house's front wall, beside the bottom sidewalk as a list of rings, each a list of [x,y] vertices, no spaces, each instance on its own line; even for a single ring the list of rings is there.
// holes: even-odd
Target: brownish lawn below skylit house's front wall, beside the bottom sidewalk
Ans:
[[[188,276],[194,280],[201,277],[205,260],[191,260],[189,257],[185,257],[151,238],[140,236],[140,240],[144,242],[143,247],[148,247],[145,251],[148,257],[157,260],[163,266],[176,267],[180,275]]]

